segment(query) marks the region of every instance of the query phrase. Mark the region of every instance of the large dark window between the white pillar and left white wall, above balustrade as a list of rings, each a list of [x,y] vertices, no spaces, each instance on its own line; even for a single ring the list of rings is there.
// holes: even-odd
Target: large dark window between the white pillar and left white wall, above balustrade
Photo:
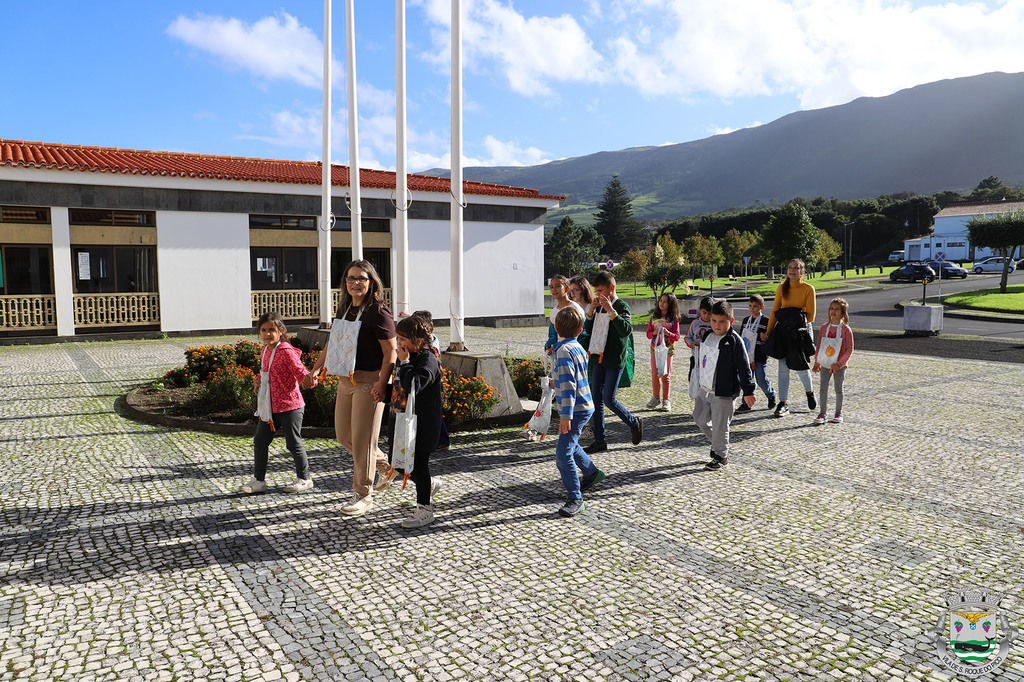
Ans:
[[[77,294],[157,291],[154,247],[76,247],[72,269]]]

